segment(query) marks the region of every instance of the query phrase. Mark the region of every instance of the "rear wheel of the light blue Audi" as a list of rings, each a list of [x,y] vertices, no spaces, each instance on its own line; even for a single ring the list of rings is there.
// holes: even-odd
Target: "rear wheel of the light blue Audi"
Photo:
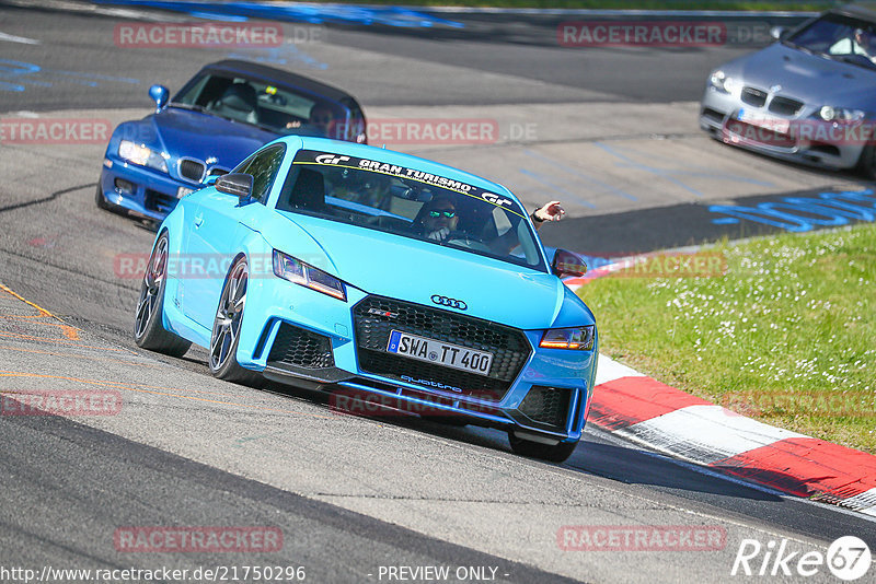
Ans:
[[[183,357],[192,343],[164,329],[164,290],[168,284],[168,232],[161,234],[149,257],[134,319],[134,342],[142,349]]]

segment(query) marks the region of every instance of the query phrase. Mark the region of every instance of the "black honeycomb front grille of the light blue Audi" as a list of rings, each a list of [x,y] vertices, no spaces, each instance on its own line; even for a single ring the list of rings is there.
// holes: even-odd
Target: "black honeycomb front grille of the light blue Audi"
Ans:
[[[371,308],[381,314],[370,314]],[[502,399],[531,351],[520,330],[393,299],[368,296],[353,308],[353,317],[362,371],[424,387],[451,386],[456,388],[451,392],[483,399]],[[488,351],[493,353],[493,364],[487,375],[477,375],[388,353],[391,330]]]

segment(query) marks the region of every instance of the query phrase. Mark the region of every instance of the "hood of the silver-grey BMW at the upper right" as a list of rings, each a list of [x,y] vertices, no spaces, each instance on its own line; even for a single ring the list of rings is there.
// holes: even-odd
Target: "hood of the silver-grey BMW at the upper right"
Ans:
[[[812,106],[861,107],[871,101],[876,89],[876,70],[809,55],[781,43],[721,69],[728,77],[761,90],[781,85],[776,93]],[[858,101],[857,95],[866,97],[866,102]]]

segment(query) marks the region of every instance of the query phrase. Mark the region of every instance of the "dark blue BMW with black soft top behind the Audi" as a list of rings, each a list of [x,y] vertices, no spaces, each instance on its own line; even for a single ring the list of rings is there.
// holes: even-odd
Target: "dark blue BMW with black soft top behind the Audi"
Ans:
[[[149,95],[155,113],[120,124],[106,147],[96,192],[102,209],[162,220],[204,180],[279,136],[366,142],[355,97],[263,65],[215,62],[173,98],[162,85]]]

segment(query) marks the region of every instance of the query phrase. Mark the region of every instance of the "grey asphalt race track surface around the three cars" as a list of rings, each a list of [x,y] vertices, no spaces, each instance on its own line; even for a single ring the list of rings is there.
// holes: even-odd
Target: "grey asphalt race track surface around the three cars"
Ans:
[[[191,16],[22,4],[0,2],[3,120],[115,125],[150,112],[152,83],[175,90],[206,62],[258,59],[347,89],[369,119],[494,120],[488,142],[387,145],[495,178],[529,207],[563,200],[568,219],[541,233],[586,254],[769,233],[781,227],[716,223],[710,206],[872,187],[700,132],[705,75],[750,47],[583,51],[556,45],[562,16],[445,14],[461,26],[287,23],[287,38],[301,42],[280,48],[125,49],[116,24]],[[139,281],[116,259],[148,254],[154,234],[94,206],[104,148],[0,145],[0,389],[99,388],[123,404],[115,416],[0,417],[0,581],[24,582],[3,572],[16,568],[273,565],[304,567],[307,582],[325,583],[729,582],[746,539],[764,549],[785,540],[799,557],[854,535],[876,550],[873,518],[704,474],[597,430],[566,464],[550,465],[512,455],[497,432],[338,416],[319,395],[214,379],[203,350],[139,350]],[[283,546],[131,552],[114,540],[131,526],[263,526],[279,529]],[[708,550],[580,551],[563,548],[568,526],[724,536]],[[424,571],[440,567],[450,569],[443,580]],[[754,580],[800,580],[764,567]],[[806,581],[835,579],[822,567]]]

